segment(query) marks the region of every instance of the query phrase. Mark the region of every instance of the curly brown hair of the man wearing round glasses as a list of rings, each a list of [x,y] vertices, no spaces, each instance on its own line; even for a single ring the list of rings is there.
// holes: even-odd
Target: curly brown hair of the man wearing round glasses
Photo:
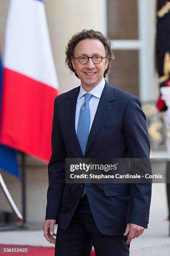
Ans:
[[[85,39],[98,39],[104,45],[106,56],[109,58],[107,69],[104,72],[104,77],[106,77],[106,74],[109,72],[110,62],[112,61],[112,59],[114,59],[114,54],[111,50],[111,40],[104,36],[100,31],[94,31],[93,29],[84,29],[83,31],[74,34],[69,40],[68,45],[66,46],[66,65],[69,67],[69,69],[71,69],[72,72],[75,73],[76,77],[79,77],[74,70],[71,59],[74,56],[74,49],[76,45],[79,43],[79,41]]]

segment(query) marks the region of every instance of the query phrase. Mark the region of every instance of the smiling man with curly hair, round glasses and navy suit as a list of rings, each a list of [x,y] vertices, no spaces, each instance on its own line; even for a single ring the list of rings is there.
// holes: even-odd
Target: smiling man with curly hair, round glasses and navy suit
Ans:
[[[66,48],[81,85],[54,103],[44,236],[56,256],[90,256],[92,246],[96,256],[127,256],[132,238],[147,228],[150,184],[65,184],[65,158],[150,156],[139,98],[104,80],[112,58],[99,31],[76,33]]]

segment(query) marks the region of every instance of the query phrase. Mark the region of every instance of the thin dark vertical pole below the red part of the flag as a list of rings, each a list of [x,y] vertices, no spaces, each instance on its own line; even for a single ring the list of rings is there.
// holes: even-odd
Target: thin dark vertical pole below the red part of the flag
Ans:
[[[24,152],[21,152],[21,190],[22,190],[23,225],[25,225],[26,224],[26,168],[25,168]]]

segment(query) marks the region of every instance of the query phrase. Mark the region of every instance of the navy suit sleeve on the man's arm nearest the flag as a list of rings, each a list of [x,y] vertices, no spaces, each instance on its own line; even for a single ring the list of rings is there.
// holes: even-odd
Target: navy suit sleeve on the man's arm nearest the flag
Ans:
[[[53,127],[51,133],[52,154],[48,164],[48,191],[46,219],[58,220],[63,188],[65,185],[66,147],[58,120],[58,97],[54,101]]]

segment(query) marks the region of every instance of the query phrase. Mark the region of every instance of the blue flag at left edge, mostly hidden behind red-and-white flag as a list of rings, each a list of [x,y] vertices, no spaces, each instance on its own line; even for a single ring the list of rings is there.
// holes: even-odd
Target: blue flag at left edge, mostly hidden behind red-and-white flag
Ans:
[[[2,77],[3,67],[0,57],[0,108],[1,108],[1,96],[2,96]],[[1,116],[0,116],[1,120]],[[17,153],[13,148],[9,148],[0,144],[0,169],[15,175],[20,178],[20,172],[17,161]]]

